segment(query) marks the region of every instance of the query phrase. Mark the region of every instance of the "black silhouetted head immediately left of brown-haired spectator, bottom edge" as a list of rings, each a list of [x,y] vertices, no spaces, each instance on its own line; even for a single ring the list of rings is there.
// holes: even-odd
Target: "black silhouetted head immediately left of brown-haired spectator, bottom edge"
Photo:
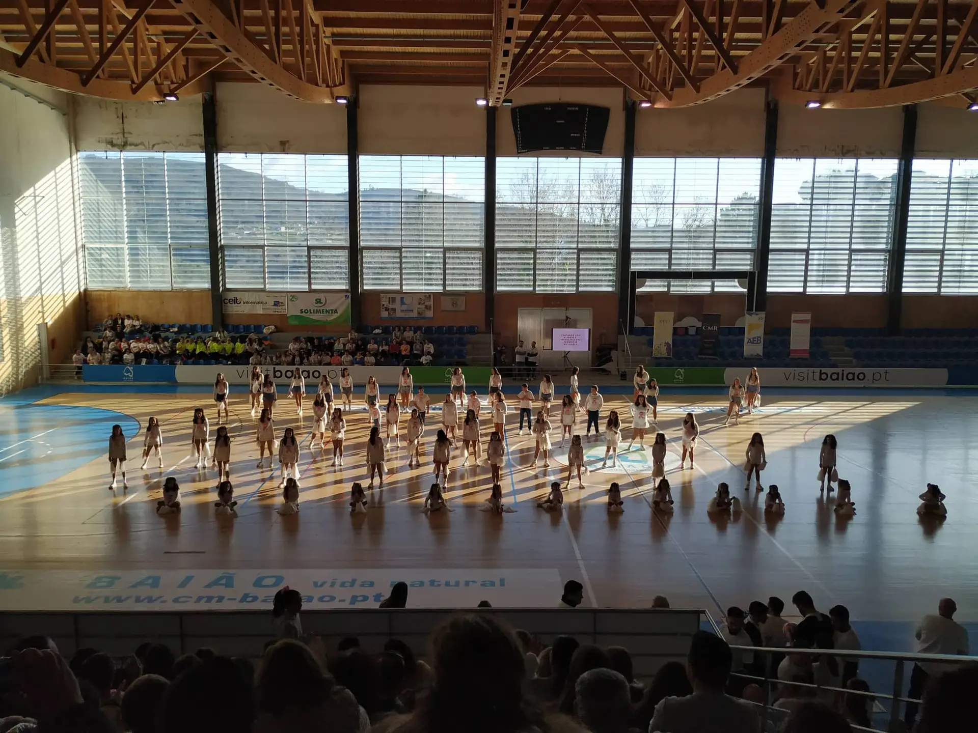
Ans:
[[[215,657],[170,683],[157,733],[250,733],[254,713],[254,691],[241,669]]]

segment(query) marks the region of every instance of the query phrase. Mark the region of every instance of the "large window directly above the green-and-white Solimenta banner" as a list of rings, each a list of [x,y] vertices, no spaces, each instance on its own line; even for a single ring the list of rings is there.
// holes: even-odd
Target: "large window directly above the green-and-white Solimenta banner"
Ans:
[[[217,156],[224,282],[249,290],[347,290],[346,155]]]

